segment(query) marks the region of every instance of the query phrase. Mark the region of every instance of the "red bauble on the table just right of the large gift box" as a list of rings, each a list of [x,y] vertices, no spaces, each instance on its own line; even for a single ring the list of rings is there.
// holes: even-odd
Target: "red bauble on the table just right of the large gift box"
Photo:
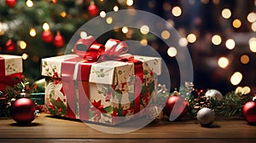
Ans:
[[[172,95],[168,98],[164,112],[171,121],[182,118],[188,112],[188,101],[178,95]]]

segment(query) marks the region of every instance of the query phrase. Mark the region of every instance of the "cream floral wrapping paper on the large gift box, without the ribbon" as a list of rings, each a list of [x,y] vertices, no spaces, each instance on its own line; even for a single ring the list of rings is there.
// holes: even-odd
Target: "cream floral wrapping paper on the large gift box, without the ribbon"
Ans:
[[[75,57],[76,55],[70,54],[42,60],[42,75],[46,78],[45,106],[49,114],[70,117],[67,112],[69,104],[67,96],[72,96],[75,100],[73,108],[75,117],[72,118],[94,123],[122,123],[148,105],[154,94],[157,75],[160,75],[160,58],[134,56],[134,59],[141,61],[143,66],[143,80],[139,84],[140,91],[137,95],[135,95],[137,75],[134,63],[113,60],[92,64],[89,82],[70,81],[74,82],[75,91],[74,94],[67,94],[64,92],[61,79],[61,63],[64,59]],[[86,89],[83,89],[84,85],[88,87],[88,95],[83,95],[83,90]],[[88,97],[87,100],[84,100],[85,96]],[[136,99],[139,101],[137,107]]]

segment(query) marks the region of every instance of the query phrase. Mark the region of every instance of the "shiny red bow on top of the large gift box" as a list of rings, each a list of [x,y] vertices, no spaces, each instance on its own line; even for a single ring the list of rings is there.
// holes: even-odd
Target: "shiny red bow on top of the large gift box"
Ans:
[[[79,47],[80,46],[80,47]],[[83,47],[81,47],[83,46]],[[85,46],[85,48],[84,48]],[[84,51],[83,49],[86,49]],[[83,57],[84,60],[132,60],[132,54],[126,54],[129,48],[125,42],[116,39],[108,39],[104,45],[96,43],[96,39],[92,36],[79,39],[74,45],[73,52]]]

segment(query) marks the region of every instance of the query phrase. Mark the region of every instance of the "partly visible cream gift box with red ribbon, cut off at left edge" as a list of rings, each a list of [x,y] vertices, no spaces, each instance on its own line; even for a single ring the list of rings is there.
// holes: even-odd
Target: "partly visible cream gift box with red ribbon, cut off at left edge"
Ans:
[[[0,90],[20,83],[23,77],[21,56],[0,54]]]

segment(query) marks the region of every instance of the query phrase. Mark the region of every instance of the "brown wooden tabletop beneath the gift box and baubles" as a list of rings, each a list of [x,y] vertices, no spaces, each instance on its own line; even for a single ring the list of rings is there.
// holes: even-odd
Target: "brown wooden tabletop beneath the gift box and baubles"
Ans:
[[[99,126],[99,125],[96,125]],[[127,134],[108,134],[85,123],[41,114],[20,126],[11,118],[0,118],[0,142],[255,142],[256,126],[244,120],[217,120],[202,128],[196,120],[149,124]]]

